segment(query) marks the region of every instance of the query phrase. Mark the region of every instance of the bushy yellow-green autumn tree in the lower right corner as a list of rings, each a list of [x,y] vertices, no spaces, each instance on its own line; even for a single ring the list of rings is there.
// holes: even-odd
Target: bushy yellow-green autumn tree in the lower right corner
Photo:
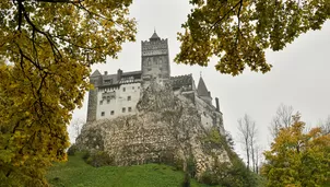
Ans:
[[[262,174],[268,186],[320,186],[330,178],[330,135],[314,128],[304,133],[305,122],[293,116],[293,124],[282,128],[264,152]]]

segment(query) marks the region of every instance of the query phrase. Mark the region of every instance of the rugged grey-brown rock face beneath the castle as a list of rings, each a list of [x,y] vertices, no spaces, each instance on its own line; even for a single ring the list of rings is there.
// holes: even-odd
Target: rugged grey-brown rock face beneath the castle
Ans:
[[[205,141],[220,127],[202,125],[191,100],[175,95],[170,85],[151,84],[142,91],[139,113],[87,122],[76,139],[80,149],[108,153],[115,165],[187,161],[193,157],[197,176],[215,162],[229,162],[223,145]]]

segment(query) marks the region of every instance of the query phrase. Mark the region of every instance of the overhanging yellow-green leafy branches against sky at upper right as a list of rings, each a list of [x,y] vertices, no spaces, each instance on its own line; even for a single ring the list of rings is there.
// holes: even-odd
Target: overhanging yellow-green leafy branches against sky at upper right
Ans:
[[[282,50],[300,34],[320,30],[330,19],[328,0],[190,0],[193,9],[178,33],[176,61],[208,66],[237,75],[249,67],[268,72],[264,50]]]

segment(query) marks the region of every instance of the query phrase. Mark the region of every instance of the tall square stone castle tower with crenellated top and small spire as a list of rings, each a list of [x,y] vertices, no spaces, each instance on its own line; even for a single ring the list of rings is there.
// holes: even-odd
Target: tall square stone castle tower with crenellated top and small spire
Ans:
[[[142,80],[156,80],[157,82],[169,80],[170,70],[167,39],[161,39],[156,32],[154,32],[151,38],[141,42],[141,45]]]

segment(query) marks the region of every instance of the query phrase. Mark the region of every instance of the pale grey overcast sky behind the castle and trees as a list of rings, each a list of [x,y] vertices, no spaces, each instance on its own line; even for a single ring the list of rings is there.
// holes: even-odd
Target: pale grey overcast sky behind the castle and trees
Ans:
[[[271,138],[268,137],[268,126],[281,103],[292,105],[295,112],[302,113],[308,126],[316,126],[330,115],[329,21],[321,31],[299,36],[282,51],[267,51],[267,60],[273,65],[270,72],[262,74],[245,71],[241,75],[232,77],[215,71],[215,60],[208,68],[173,62],[179,51],[176,33],[181,30],[180,25],[190,12],[188,1],[134,0],[131,16],[138,21],[137,43],[125,44],[119,59],[95,65],[93,71],[98,69],[101,72],[116,73],[119,68],[123,71],[140,70],[141,40],[148,40],[156,28],[161,38],[168,38],[172,75],[192,73],[197,84],[202,72],[212,97],[220,100],[224,127],[236,141],[237,119],[248,114],[259,129],[260,144],[269,144]],[[86,98],[83,108],[74,112],[73,119],[85,120]],[[240,147],[238,142],[236,144],[238,151]]]

